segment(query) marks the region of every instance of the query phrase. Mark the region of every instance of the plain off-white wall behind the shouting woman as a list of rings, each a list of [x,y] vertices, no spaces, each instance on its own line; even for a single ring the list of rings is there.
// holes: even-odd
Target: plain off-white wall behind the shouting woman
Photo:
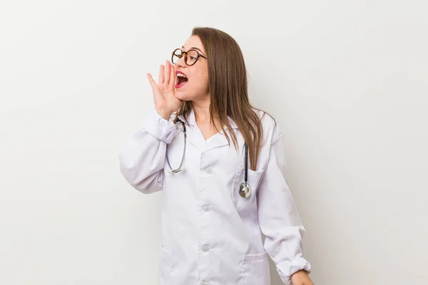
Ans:
[[[315,284],[428,284],[427,8],[1,0],[0,284],[156,284],[162,194],[118,153],[193,26],[238,41],[285,133]]]

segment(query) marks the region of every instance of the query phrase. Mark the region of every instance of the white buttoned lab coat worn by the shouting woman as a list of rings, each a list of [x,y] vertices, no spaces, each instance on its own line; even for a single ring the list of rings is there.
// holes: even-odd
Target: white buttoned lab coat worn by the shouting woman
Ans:
[[[295,271],[310,271],[302,253],[305,229],[285,179],[284,141],[272,118],[263,118],[265,144],[256,170],[248,170],[252,194],[243,198],[238,186],[244,181],[244,141],[235,122],[229,118],[239,152],[223,131],[205,140],[192,110],[185,170],[170,173],[165,153],[175,169],[184,146],[174,117],[165,120],[151,110],[120,155],[121,172],[136,190],[163,190],[159,284],[268,285],[267,254],[285,284]]]

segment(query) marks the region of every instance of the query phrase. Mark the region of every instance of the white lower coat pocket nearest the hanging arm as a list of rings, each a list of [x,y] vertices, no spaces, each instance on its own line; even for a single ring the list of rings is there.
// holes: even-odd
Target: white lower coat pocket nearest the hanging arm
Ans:
[[[267,253],[245,254],[243,260],[243,285],[270,285]]]

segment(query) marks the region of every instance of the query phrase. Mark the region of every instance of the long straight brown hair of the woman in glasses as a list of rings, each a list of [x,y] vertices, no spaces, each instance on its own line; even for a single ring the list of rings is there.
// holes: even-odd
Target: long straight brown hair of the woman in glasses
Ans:
[[[263,141],[261,118],[266,112],[262,111],[263,116],[259,118],[258,114],[252,110],[260,109],[253,108],[248,99],[247,72],[243,53],[234,38],[216,28],[196,27],[193,28],[192,36],[200,38],[208,60],[210,121],[214,123],[213,115],[218,114],[229,145],[230,138],[223,125],[231,128],[228,116],[235,121],[248,145],[250,169],[255,170]],[[178,110],[177,117],[184,115],[187,120],[191,108],[191,102],[185,101]],[[236,135],[234,132],[230,134],[233,145],[238,150]]]

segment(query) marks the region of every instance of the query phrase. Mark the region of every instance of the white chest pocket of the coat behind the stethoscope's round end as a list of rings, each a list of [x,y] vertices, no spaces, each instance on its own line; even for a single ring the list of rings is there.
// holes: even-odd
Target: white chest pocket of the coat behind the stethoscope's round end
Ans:
[[[240,184],[245,181],[245,167],[238,167],[235,174],[235,180],[233,181],[233,204],[238,211],[252,211],[257,207],[257,196],[258,186],[260,184],[260,178],[263,175],[263,171],[254,171],[248,169],[247,183],[250,186],[250,195],[248,197],[242,197],[239,194]]]

